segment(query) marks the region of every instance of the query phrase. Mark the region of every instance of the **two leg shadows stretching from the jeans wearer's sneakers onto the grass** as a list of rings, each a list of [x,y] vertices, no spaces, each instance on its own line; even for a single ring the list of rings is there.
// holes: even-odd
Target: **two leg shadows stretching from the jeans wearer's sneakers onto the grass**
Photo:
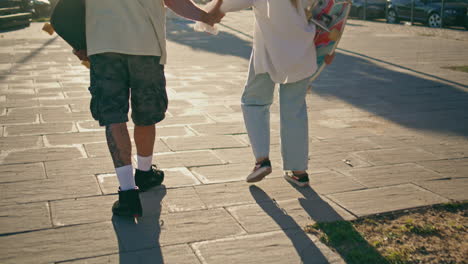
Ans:
[[[304,211],[309,215],[311,223],[333,223],[340,229],[322,228],[322,231],[330,238],[328,245],[336,250],[347,263],[359,264],[388,264],[388,262],[354,229],[350,222],[346,222],[327,202],[312,190],[310,186],[298,188],[303,197],[299,198]],[[258,186],[249,187],[250,193],[257,204],[267,213],[276,224],[285,232],[291,240],[302,263],[329,263],[323,253],[317,248],[304,227],[299,226],[295,220],[280,208],[275,200],[271,199]],[[338,237],[338,239],[335,239]],[[351,239],[351,241],[349,240]],[[335,241],[338,240],[338,243]],[[340,242],[344,242],[342,247]],[[350,252],[353,252],[350,254]],[[361,253],[362,252],[362,253]],[[354,255],[353,255],[354,254]],[[375,262],[377,261],[377,262]]]

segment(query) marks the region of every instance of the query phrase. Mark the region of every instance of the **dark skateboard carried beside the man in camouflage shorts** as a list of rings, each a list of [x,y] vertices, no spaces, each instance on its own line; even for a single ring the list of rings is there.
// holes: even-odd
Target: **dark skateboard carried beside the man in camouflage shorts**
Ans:
[[[76,51],[86,50],[85,14],[85,0],[59,0],[43,30],[50,35],[55,31]]]

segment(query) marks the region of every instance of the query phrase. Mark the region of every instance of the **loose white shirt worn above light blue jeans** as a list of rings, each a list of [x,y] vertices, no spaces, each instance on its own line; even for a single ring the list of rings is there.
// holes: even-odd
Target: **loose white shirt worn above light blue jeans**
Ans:
[[[223,0],[221,11],[253,7],[255,30],[252,58],[256,74],[268,73],[276,83],[292,83],[312,76],[317,70],[315,25],[303,11],[308,0]]]

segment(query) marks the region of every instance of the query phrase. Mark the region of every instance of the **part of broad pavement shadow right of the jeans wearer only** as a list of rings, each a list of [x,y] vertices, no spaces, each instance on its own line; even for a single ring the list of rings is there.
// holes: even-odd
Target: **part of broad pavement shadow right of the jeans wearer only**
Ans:
[[[369,116],[346,116],[350,112],[339,107],[317,109],[325,110],[335,119],[344,114],[346,117],[341,120],[345,127],[371,122],[368,117],[375,115],[411,129],[468,136],[468,92],[456,83],[426,77],[339,53],[335,62],[312,83],[312,93],[335,97],[369,112]],[[312,100],[312,108],[313,103]]]

